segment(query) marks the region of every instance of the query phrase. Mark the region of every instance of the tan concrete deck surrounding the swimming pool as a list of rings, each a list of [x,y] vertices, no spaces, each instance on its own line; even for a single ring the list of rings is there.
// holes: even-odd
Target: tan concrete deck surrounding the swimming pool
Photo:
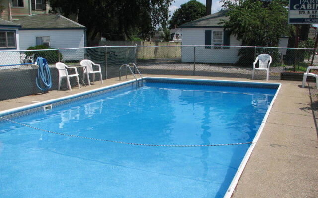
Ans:
[[[318,90],[301,88],[300,81],[250,80],[202,76],[162,76],[281,83],[282,87],[232,195],[232,198],[317,198],[318,197]],[[131,76],[130,79],[131,80]],[[55,99],[123,82],[107,79],[104,84],[53,90],[0,101],[0,111]]]

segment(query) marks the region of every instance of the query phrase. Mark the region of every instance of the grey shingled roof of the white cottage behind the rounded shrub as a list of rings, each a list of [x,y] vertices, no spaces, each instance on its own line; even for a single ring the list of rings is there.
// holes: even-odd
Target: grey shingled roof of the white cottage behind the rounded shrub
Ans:
[[[86,27],[60,14],[34,14],[18,20],[20,30],[34,29],[85,29]]]

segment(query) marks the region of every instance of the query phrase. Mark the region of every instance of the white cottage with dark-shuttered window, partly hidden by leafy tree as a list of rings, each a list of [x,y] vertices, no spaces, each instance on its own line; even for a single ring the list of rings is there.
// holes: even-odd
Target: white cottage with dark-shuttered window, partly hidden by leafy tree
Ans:
[[[211,45],[196,48],[196,62],[233,64],[239,60],[239,47],[218,47],[242,44],[220,24],[222,20],[228,20],[225,14],[226,11],[219,11],[179,26],[182,28],[182,45]],[[281,38],[280,41],[283,41],[280,47],[287,47],[288,39]],[[286,50],[281,52],[286,53]],[[181,56],[182,62],[193,62],[193,48],[182,48]]]

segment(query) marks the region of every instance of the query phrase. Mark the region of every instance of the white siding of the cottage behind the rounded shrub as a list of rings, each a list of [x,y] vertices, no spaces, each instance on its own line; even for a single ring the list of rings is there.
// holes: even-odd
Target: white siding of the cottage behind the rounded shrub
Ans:
[[[36,37],[50,36],[51,48],[80,48],[84,47],[84,30],[20,30],[20,49],[26,50],[36,45]],[[84,59],[84,49],[60,50],[62,60]]]

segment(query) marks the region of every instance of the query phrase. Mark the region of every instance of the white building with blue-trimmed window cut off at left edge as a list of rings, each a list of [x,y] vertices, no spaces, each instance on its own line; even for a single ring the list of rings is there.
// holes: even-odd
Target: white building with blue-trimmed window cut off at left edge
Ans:
[[[0,64],[10,65],[20,63],[19,28],[21,25],[0,19]],[[9,52],[12,51],[12,52]],[[6,69],[1,67],[0,69]],[[12,68],[12,67],[11,67]]]

